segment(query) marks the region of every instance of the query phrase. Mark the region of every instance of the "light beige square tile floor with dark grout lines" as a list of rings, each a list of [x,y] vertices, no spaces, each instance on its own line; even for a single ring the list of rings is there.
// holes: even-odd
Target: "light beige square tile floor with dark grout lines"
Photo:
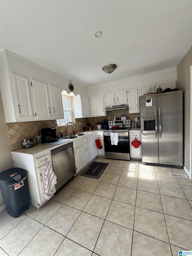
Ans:
[[[82,170],[41,209],[30,206],[19,218],[0,213],[1,256],[178,256],[192,250],[192,180],[169,176],[183,170],[94,161],[109,163],[99,180],[80,176]]]

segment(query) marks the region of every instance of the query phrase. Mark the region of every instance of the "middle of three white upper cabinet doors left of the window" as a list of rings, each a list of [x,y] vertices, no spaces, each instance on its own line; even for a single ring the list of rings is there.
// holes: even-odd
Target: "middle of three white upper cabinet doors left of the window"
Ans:
[[[38,119],[50,119],[50,105],[48,96],[48,86],[36,80],[32,80],[33,94],[35,98],[36,116]]]

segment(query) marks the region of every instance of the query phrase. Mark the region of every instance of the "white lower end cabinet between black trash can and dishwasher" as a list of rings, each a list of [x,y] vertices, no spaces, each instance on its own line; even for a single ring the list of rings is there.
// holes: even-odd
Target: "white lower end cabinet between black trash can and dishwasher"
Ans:
[[[14,167],[23,168],[27,172],[27,187],[29,202],[32,206],[40,208],[48,200],[45,199],[44,177],[46,162],[52,167],[50,151],[40,153],[37,156],[11,152]],[[53,187],[52,196],[56,192],[55,185]]]

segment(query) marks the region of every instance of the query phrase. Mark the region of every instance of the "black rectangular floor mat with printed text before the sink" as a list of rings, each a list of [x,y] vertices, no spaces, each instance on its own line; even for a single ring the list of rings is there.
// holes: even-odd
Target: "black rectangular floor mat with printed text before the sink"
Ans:
[[[106,169],[108,163],[93,162],[80,176],[99,179]]]

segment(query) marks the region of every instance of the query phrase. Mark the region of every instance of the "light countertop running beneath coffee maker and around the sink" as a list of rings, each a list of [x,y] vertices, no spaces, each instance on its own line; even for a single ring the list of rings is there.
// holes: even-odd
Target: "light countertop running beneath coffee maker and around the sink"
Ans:
[[[27,155],[36,155],[36,154],[43,153],[43,152],[46,153],[46,152],[48,152],[48,151],[50,151],[52,149],[56,149],[56,148],[58,148],[60,146],[63,146],[63,145],[66,145],[66,144],[68,144],[70,142],[76,141],[79,138],[84,138],[87,134],[94,133],[94,132],[97,132],[97,131],[103,132],[104,129],[94,129],[94,130],[87,130],[87,131],[78,132],[78,133],[85,133],[85,135],[79,136],[79,137],[77,137],[75,139],[67,139],[69,141],[67,141],[65,143],[62,143],[62,144],[59,144],[59,145],[56,145],[56,146],[38,144],[38,145],[32,146],[32,147],[30,147],[28,149],[26,149],[26,148],[17,149],[17,150],[11,151],[11,153],[12,154],[15,154],[15,153],[18,154],[19,153],[19,154],[27,154]]]

